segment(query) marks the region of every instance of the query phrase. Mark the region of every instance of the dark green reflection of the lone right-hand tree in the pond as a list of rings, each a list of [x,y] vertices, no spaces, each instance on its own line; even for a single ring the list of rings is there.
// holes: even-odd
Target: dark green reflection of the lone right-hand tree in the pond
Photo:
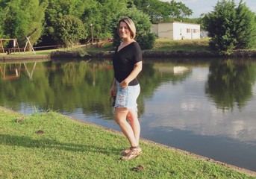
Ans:
[[[209,67],[205,93],[223,111],[233,110],[235,104],[241,110],[252,98],[255,67],[255,63],[243,60],[214,61]]]

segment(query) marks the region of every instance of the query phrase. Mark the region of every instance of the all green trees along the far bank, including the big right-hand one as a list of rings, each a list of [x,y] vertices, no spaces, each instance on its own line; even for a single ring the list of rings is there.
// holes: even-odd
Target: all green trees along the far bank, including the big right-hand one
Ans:
[[[152,23],[181,20],[202,24],[209,32],[210,47],[219,53],[252,48],[256,42],[256,16],[243,0],[238,6],[234,0],[218,1],[212,12],[194,19],[189,18],[193,10],[175,0],[0,0],[0,7],[0,38],[16,38],[19,45],[35,28],[32,45],[68,47],[87,42],[92,32],[96,38],[118,39],[121,16],[134,20],[143,49],[154,44]]]

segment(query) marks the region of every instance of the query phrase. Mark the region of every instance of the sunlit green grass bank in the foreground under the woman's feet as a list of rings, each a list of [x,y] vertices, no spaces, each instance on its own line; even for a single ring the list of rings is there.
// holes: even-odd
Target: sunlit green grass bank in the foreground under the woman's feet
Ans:
[[[24,116],[0,108],[0,178],[253,178],[145,140],[141,156],[119,160],[126,147],[116,132],[57,113]]]

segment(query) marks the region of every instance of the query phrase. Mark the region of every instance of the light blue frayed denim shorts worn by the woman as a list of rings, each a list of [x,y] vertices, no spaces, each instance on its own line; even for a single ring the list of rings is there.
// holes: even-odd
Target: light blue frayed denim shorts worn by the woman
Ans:
[[[122,89],[119,82],[116,81],[116,88],[117,94],[115,107],[125,107],[137,110],[137,98],[140,95],[140,84]]]

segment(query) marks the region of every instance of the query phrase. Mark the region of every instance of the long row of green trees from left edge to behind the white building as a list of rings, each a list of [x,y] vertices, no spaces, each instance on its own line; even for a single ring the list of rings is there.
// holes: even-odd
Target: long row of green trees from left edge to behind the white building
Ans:
[[[149,23],[193,13],[174,0],[1,0],[0,7],[0,38],[22,40],[37,28],[32,45],[74,45],[87,40],[92,28],[94,37],[113,37],[114,22],[128,14],[140,21],[139,34],[145,34]]]

